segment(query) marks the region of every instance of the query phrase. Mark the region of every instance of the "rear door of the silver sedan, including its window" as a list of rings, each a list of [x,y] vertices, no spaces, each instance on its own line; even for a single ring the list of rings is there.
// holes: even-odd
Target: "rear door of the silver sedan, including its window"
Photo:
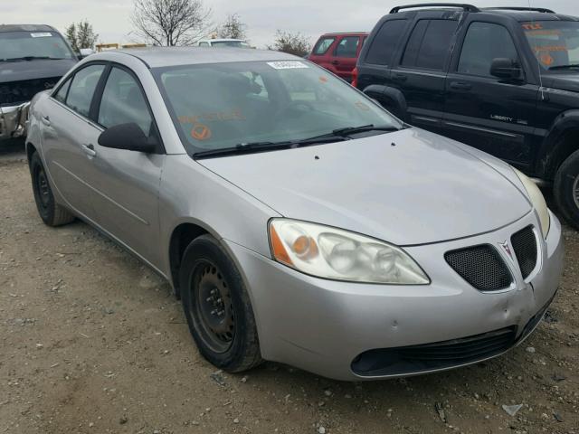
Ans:
[[[53,94],[43,109],[43,156],[55,188],[68,205],[94,221],[95,191],[90,185],[94,134],[89,118],[94,92],[105,71],[104,63],[77,71]]]

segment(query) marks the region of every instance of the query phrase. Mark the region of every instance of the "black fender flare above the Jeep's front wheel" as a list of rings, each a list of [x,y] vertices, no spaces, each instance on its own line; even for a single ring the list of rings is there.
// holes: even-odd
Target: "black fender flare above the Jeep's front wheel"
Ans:
[[[562,140],[571,130],[577,130],[579,134],[579,109],[566,110],[559,114],[541,144],[537,155],[536,171],[546,179],[553,179],[565,157],[579,149],[579,143],[570,149],[569,144]]]

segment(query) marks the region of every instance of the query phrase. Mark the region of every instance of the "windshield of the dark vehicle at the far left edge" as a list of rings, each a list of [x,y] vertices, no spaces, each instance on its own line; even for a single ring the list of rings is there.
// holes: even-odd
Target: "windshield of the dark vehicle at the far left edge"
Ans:
[[[73,59],[74,54],[56,32],[0,33],[0,61],[43,57]]]

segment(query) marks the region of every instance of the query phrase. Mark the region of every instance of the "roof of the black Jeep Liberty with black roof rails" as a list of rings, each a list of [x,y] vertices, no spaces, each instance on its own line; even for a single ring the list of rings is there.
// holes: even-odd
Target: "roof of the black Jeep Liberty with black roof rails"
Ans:
[[[464,4],[444,4],[444,7],[432,7],[433,5],[423,4],[423,5],[410,5],[410,6],[399,6],[401,7],[400,11],[395,12],[394,14],[388,14],[385,16],[392,16],[392,15],[404,15],[404,14],[423,14],[423,13],[432,13],[432,12],[456,12],[457,9],[464,10],[469,12],[470,14],[496,14],[500,16],[508,16],[513,18],[519,22],[527,22],[527,21],[579,21],[579,18],[565,15],[565,14],[555,14],[554,12],[544,12],[547,9],[543,9],[540,7],[531,8],[529,10],[524,10],[523,7],[512,6],[509,8],[508,6],[504,7],[484,7],[478,8],[472,5],[464,5]],[[394,8],[396,9],[396,8]],[[394,11],[394,10],[393,10]]]

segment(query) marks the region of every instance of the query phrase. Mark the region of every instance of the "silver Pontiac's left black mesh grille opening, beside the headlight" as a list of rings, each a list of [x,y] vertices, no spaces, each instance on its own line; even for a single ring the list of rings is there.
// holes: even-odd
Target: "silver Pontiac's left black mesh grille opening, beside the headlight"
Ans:
[[[474,288],[480,291],[498,291],[510,286],[513,278],[498,251],[489,244],[451,250],[444,259]]]

